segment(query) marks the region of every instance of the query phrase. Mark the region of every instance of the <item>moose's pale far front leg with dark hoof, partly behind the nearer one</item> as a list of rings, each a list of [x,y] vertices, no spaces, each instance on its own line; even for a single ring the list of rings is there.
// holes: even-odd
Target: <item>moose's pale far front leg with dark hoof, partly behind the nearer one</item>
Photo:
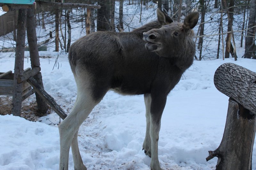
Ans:
[[[151,157],[151,138],[150,138],[150,106],[151,106],[151,96],[150,94],[144,94],[144,101],[146,106],[146,136],[142,145],[142,150],[145,154]]]

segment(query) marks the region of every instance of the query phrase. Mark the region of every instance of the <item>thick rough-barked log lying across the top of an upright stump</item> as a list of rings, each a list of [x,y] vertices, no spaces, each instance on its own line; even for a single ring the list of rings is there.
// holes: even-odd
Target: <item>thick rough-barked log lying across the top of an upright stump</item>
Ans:
[[[233,63],[225,63],[215,71],[214,85],[220,92],[256,114],[255,72]]]

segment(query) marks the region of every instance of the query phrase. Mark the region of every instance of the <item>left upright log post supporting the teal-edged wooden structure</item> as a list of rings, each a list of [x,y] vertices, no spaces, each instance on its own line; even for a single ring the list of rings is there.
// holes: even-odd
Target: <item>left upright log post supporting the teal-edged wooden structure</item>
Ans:
[[[12,95],[12,114],[15,116],[21,115],[21,98],[22,98],[22,84],[18,84],[18,77],[23,75],[24,68],[24,48],[26,35],[26,19],[27,10],[20,9],[18,15],[17,25],[17,41],[15,49],[15,66],[14,66],[14,83]]]

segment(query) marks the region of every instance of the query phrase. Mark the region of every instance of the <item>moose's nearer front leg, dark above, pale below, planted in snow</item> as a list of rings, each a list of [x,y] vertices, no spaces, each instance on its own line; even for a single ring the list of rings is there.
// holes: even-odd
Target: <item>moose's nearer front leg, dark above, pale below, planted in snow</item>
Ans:
[[[162,170],[158,160],[158,140],[161,127],[161,117],[164,111],[167,95],[154,96],[151,94],[150,107],[150,138],[151,138],[151,163],[152,170]]]

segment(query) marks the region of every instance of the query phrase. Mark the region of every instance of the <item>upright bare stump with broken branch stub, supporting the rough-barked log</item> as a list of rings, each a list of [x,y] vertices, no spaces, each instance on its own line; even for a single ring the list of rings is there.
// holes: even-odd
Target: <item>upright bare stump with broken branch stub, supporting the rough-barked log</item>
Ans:
[[[255,132],[255,115],[230,98],[220,146],[215,151],[209,151],[206,161],[218,157],[216,170],[252,169]]]

